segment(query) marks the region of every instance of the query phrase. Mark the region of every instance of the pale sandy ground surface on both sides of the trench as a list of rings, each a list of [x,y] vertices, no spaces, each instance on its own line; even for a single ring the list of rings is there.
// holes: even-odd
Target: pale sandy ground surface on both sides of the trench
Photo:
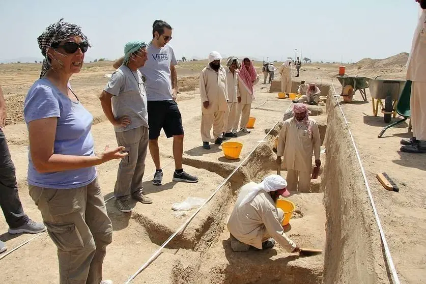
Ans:
[[[178,69],[179,75],[191,77],[190,79],[180,78],[180,80],[182,82],[188,80],[190,86],[191,84],[196,86],[196,76],[203,66],[202,63],[199,64],[200,66],[180,67],[181,69]],[[370,67],[364,68],[365,66]],[[34,80],[38,78],[39,70],[40,65],[36,64],[0,65],[0,84],[2,84],[5,92],[9,115],[5,133],[8,138],[12,159],[17,169],[20,197],[25,212],[38,221],[41,220],[41,215],[27,193],[27,133],[26,127],[22,123],[22,105],[27,90]],[[105,121],[98,100],[98,95],[107,82],[104,74],[111,73],[111,71],[110,63],[107,62],[88,64],[83,67],[83,72],[73,76],[71,81],[80,101],[95,117],[93,135],[96,151],[102,151],[107,144],[110,146],[116,145],[112,126]],[[294,79],[305,79],[308,82],[334,83],[337,93],[340,92],[338,81],[333,79],[333,75],[338,72],[338,65],[303,65],[301,71],[301,77]],[[400,63],[392,63],[388,67],[377,67],[377,64],[373,66],[372,62],[369,61],[348,66],[347,73],[371,78],[377,75],[381,75],[383,78],[404,78],[404,68]],[[279,77],[279,75],[276,76]],[[184,87],[186,86],[183,84],[182,88]],[[257,86],[258,90],[264,87],[269,89],[268,86],[262,84]],[[190,87],[190,89],[192,88]],[[259,105],[261,107],[252,110],[252,115],[257,117],[255,128],[250,135],[243,135],[237,138],[237,140],[244,143],[241,159],[248,155],[251,149],[259,143],[258,141],[265,135],[264,129],[271,128],[280,118],[282,111],[290,104],[288,100],[279,100],[275,97],[276,94],[268,93],[259,93],[257,95],[257,101],[253,103],[252,107],[255,108]],[[399,140],[401,137],[410,137],[407,125],[403,124],[401,127],[391,128],[386,131],[383,138],[377,138],[378,133],[385,124],[381,115],[378,117],[372,116],[371,97],[367,97],[368,102],[363,102],[357,93],[351,104],[343,104],[342,107],[360,151],[396,270],[403,283],[421,283],[426,276],[424,270],[426,239],[423,237],[426,218],[426,214],[424,214],[426,213],[426,194],[421,190],[420,185],[425,180],[426,156],[399,152]],[[114,237],[113,243],[108,247],[104,271],[106,278],[112,278],[116,282],[124,282],[158,249],[168,235],[172,234],[185,220],[184,217],[172,215],[169,208],[174,202],[181,202],[186,196],[206,198],[216,189],[223,176],[226,176],[227,173],[226,171],[216,171],[215,166],[219,165],[220,169],[227,169],[229,173],[229,169],[232,170],[233,166],[239,163],[239,160],[229,161],[224,159],[218,147],[212,147],[211,151],[202,149],[199,131],[200,98],[197,90],[181,91],[178,103],[186,132],[184,158],[186,163],[197,167],[185,166],[185,168],[189,172],[200,176],[202,180],[194,185],[171,182],[174,169],[170,150],[172,141],[165,139],[162,134],[160,137],[161,162],[162,165],[167,165],[164,170],[165,184],[162,187],[157,188],[150,184],[154,165],[149,155],[146,160],[147,180],[144,185],[149,196],[154,199],[154,204],[150,206],[138,204],[132,214],[122,214],[115,209],[112,201],[107,203],[108,214],[113,222]],[[342,129],[342,131],[345,131],[345,129]],[[111,161],[98,167],[105,198],[112,196],[117,166],[118,162]],[[359,167],[354,165],[354,168]],[[386,172],[400,186],[400,192],[395,193],[384,190],[375,178],[377,172]],[[222,244],[222,241],[226,240],[226,230],[219,234],[218,237],[214,237],[215,231],[220,232],[223,230],[223,228],[219,228],[221,223],[218,223],[218,228],[214,228],[214,226],[210,228],[206,225],[212,222],[211,220],[212,218],[214,219],[215,215],[217,215],[217,219],[224,217],[226,210],[229,210],[226,208],[231,208],[232,198],[226,198],[226,196],[231,196],[231,191],[234,192],[236,190],[232,186],[234,182],[238,184],[238,181],[232,181],[231,185],[226,185],[222,189],[222,197],[215,197],[211,205],[209,203],[209,207],[206,210],[203,209],[204,212],[202,211],[194,219],[193,224],[179,235],[176,243],[172,243],[171,247],[166,248],[159,258],[135,279],[135,283],[173,282],[171,279],[177,273],[174,270],[176,263],[180,263],[177,266],[180,270],[191,274],[194,269],[196,270],[196,267],[193,268],[188,264],[188,260],[199,258],[200,253],[205,253],[203,255],[206,258],[217,257],[219,266],[222,264],[232,266],[240,261],[238,258],[225,261],[226,255],[223,254],[229,253],[227,245]],[[310,194],[320,194],[317,197],[322,198],[321,193]],[[295,198],[300,198],[298,196],[295,196]],[[318,200],[315,202],[318,202]],[[302,204],[307,204],[307,201],[302,202]],[[323,209],[319,208],[318,210],[321,212]],[[322,218],[325,218],[325,216]],[[300,222],[303,219],[305,218],[295,219],[295,222]],[[321,226],[322,222],[323,220],[319,221],[319,228],[313,229],[312,233],[313,235],[317,234],[319,237],[317,245],[323,244],[325,238],[324,235],[321,236],[320,234],[324,230],[323,226]],[[221,225],[223,226],[223,224]],[[207,228],[206,232],[203,231],[204,226]],[[299,223],[299,226],[303,226],[303,223]],[[293,227],[295,228],[294,233],[289,232],[289,234],[297,235],[300,229],[297,229],[297,225]],[[161,230],[158,230],[158,228]],[[4,232],[3,235],[0,235],[0,240],[5,241],[9,248],[13,248],[24,240],[31,238],[29,235],[11,236],[6,233],[7,225],[4,220],[0,222],[0,232]],[[203,236],[205,236],[205,239],[203,239]],[[211,247],[211,249],[200,251],[191,249],[197,248],[201,244]],[[282,251],[280,251],[279,247],[276,251],[278,255],[281,255]],[[271,258],[272,255],[268,254],[266,257]],[[38,263],[36,269],[34,263],[41,259],[43,261]],[[201,271],[203,271],[214,265],[214,262],[207,264],[200,262],[198,268],[201,267]],[[7,283],[55,283],[56,279],[58,279],[55,247],[47,234],[44,234],[8,255],[5,259],[0,260],[0,269],[3,271],[2,274],[7,279]],[[226,273],[221,269],[223,268],[218,270],[219,274],[225,275]],[[231,276],[225,280],[232,282],[231,280],[235,279],[233,278],[235,275],[232,273],[235,273],[235,271],[231,271],[229,274]]]

